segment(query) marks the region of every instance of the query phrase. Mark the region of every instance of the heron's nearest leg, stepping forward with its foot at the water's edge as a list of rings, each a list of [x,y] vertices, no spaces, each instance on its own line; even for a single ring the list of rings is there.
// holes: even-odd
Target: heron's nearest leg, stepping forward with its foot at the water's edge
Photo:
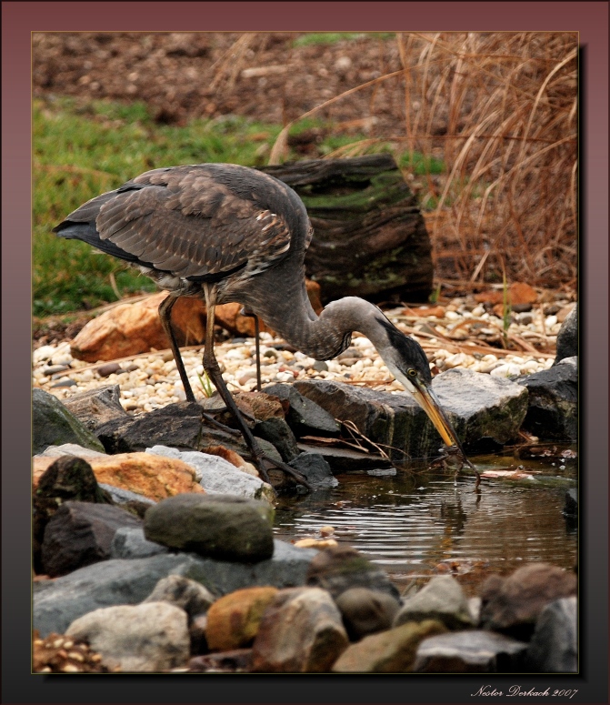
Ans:
[[[311,485],[309,485],[305,478],[299,472],[297,472],[295,468],[291,468],[289,465],[286,465],[286,463],[280,460],[275,460],[274,458],[269,458],[269,456],[265,455],[258,443],[256,443],[252,431],[245,423],[244,417],[242,416],[242,412],[239,410],[239,408],[237,408],[237,405],[235,404],[235,399],[233,398],[231,392],[225,385],[225,380],[223,379],[222,373],[220,371],[218,360],[216,360],[214,354],[215,289],[213,285],[205,284],[204,291],[205,307],[207,309],[207,322],[205,328],[205,350],[203,359],[204,369],[212,380],[215,388],[218,390],[218,394],[225,402],[226,408],[228,408],[229,411],[231,411],[231,413],[235,417],[239,429],[242,432],[242,436],[244,437],[245,444],[252,453],[252,458],[255,461],[256,467],[259,468],[259,470],[261,471],[261,475],[263,476],[265,482],[269,482],[269,476],[267,474],[267,469],[265,468],[265,464],[263,461],[266,461],[270,465],[275,466],[275,468],[282,470],[287,475],[290,475],[292,478],[294,478],[299,485],[303,485],[305,488],[311,490]]]

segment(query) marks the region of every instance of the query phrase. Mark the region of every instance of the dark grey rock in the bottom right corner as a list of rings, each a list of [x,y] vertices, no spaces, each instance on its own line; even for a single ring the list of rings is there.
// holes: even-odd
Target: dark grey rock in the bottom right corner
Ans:
[[[535,673],[577,673],[576,598],[550,602],[536,619],[525,654],[526,670]]]

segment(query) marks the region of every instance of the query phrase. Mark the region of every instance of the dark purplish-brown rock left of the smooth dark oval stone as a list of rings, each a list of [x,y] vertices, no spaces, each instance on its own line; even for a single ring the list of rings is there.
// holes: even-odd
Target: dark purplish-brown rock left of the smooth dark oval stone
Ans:
[[[46,525],[41,563],[55,578],[110,558],[116,529],[141,524],[125,509],[109,504],[66,501]]]

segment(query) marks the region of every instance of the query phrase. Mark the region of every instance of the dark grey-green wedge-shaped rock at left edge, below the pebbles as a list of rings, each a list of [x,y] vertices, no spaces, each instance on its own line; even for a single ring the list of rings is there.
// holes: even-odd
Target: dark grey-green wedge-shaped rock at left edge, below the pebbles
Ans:
[[[43,389],[32,390],[32,455],[48,446],[77,443],[103,452],[104,447],[74,414]]]

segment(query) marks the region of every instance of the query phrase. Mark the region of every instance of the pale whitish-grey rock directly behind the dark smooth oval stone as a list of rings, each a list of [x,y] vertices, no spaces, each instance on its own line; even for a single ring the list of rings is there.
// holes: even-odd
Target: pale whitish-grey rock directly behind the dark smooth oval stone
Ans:
[[[205,488],[206,494],[235,495],[247,499],[265,499],[269,502],[275,500],[275,492],[271,485],[235,468],[235,465],[217,455],[200,453],[196,450],[180,451],[167,446],[146,448],[146,453],[178,458],[195,468],[195,478]]]

